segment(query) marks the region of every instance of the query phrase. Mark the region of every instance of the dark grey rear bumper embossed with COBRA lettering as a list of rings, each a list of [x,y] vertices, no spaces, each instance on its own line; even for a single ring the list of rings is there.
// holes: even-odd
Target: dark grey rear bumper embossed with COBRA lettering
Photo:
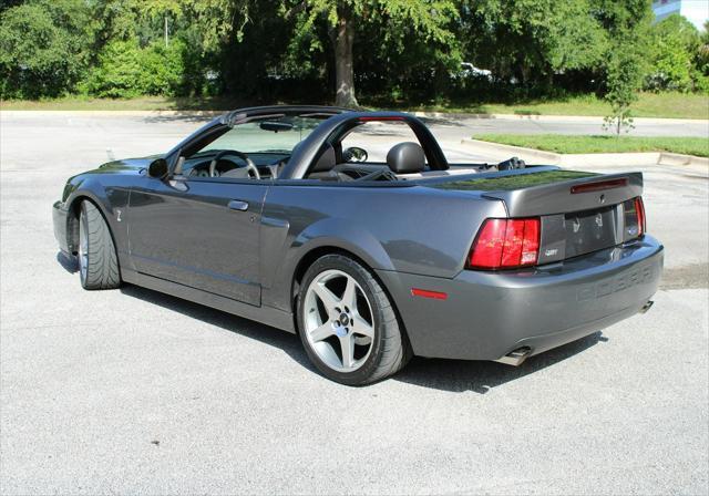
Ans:
[[[562,264],[518,271],[464,270],[454,279],[378,271],[418,355],[497,360],[583,338],[637,313],[657,291],[664,248],[645,236]],[[411,296],[411,288],[448,298]]]

